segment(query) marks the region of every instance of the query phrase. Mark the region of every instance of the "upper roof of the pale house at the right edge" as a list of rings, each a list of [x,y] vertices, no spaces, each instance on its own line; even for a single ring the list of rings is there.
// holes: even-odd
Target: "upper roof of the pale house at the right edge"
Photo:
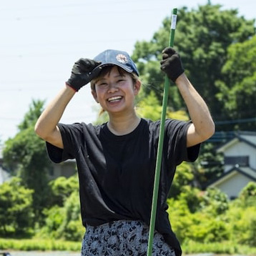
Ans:
[[[225,152],[228,148],[232,147],[237,142],[244,142],[256,149],[256,132],[235,132],[235,138],[230,139],[225,144],[217,148],[217,152]]]

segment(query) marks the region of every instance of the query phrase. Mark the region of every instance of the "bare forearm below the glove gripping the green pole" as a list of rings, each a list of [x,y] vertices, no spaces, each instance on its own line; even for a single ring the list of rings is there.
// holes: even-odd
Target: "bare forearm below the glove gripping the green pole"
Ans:
[[[204,99],[202,99],[184,73],[176,79],[175,83],[187,105],[189,116],[195,127],[195,133],[200,137],[201,141],[210,138],[215,132],[215,124]]]

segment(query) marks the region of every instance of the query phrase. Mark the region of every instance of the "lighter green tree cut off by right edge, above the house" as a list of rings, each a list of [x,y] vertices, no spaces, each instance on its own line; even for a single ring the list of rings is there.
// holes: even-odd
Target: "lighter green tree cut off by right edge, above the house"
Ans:
[[[234,122],[233,129],[255,130],[255,56],[256,36],[245,42],[230,45],[227,49],[227,61],[222,67],[223,81],[217,82],[220,89],[217,97],[224,102],[223,110],[227,119],[247,119],[247,122]]]

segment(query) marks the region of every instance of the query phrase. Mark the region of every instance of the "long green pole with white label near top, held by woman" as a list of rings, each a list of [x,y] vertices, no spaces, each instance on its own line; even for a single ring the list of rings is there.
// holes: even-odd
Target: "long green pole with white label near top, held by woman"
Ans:
[[[177,9],[175,8],[172,11],[172,24],[171,24],[171,33],[169,36],[169,46],[173,46],[173,43],[174,43],[176,21],[177,21]],[[151,208],[151,217],[150,217],[150,225],[149,225],[149,242],[147,246],[147,256],[152,256],[152,247],[153,247],[153,240],[154,240],[154,225],[155,225],[156,214],[157,214],[157,199],[158,199],[159,179],[160,179],[161,163],[162,163],[162,146],[164,142],[164,123],[166,118],[166,109],[167,109],[167,102],[168,102],[168,91],[169,91],[169,79],[167,76],[165,76],[164,95],[162,99],[162,115],[161,115],[161,122],[160,122],[158,148],[157,148],[157,162],[156,162],[156,169],[154,173],[154,189],[153,189],[152,208]]]

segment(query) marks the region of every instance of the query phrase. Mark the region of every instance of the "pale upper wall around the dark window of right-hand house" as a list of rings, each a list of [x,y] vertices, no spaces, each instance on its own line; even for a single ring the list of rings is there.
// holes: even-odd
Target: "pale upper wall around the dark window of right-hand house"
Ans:
[[[225,157],[232,156],[249,156],[249,166],[252,169],[256,169],[256,149],[245,142],[239,142],[225,151]],[[225,165],[225,172],[231,169],[231,167],[233,166]]]

